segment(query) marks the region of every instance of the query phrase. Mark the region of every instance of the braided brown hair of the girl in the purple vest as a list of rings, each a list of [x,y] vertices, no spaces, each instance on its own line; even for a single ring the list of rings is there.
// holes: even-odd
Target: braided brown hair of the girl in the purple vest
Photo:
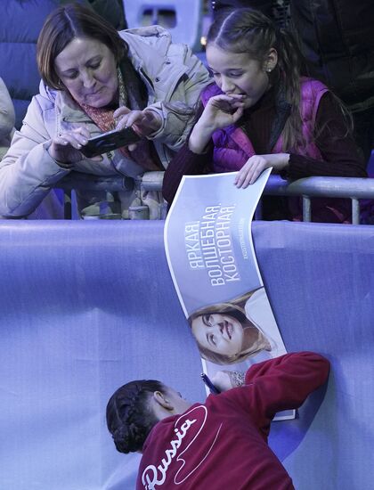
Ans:
[[[300,114],[300,67],[302,54],[294,37],[279,29],[263,13],[251,8],[224,9],[217,13],[207,33],[207,45],[215,44],[231,53],[248,53],[264,64],[274,48],[278,53],[277,67],[270,74],[273,83],[280,80],[284,98],[291,111],[283,128],[283,151],[305,144]]]

